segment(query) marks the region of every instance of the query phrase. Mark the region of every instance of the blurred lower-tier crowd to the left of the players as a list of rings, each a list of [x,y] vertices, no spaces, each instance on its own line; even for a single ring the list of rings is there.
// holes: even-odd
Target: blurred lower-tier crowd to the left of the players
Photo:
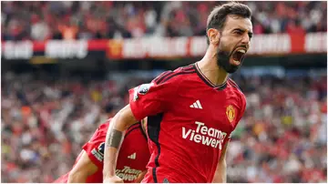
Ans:
[[[115,81],[6,73],[1,87],[2,182],[52,182],[100,123],[128,103]],[[134,80],[129,86],[143,81]]]

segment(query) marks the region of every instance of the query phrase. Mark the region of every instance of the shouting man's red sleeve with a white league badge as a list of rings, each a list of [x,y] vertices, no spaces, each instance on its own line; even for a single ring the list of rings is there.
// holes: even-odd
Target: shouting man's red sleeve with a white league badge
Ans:
[[[175,80],[168,80],[175,76],[174,72],[167,71],[159,75],[149,84],[134,87],[128,91],[129,105],[137,120],[154,116],[169,109],[172,95],[176,93]]]

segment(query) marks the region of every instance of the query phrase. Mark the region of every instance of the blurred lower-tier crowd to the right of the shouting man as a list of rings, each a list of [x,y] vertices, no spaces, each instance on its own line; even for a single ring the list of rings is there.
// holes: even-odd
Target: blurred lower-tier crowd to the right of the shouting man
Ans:
[[[231,182],[327,182],[327,77],[238,84],[247,108],[227,156]]]

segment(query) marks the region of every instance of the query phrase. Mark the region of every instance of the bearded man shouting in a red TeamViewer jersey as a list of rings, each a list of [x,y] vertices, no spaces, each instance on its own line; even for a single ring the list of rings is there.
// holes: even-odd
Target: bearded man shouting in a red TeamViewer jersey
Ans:
[[[226,182],[228,142],[246,107],[228,75],[241,66],[251,36],[248,6],[215,7],[207,21],[210,46],[199,62],[130,89],[129,105],[108,128],[104,182],[122,182],[115,167],[123,133],[145,117],[151,157],[141,182]]]

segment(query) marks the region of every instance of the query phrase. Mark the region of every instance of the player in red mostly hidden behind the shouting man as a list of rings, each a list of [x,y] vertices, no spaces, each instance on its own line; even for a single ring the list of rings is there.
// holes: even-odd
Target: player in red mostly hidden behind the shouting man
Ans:
[[[97,128],[93,137],[83,146],[73,169],[56,179],[56,183],[101,183],[103,181],[103,156],[105,138],[110,119]],[[147,136],[140,123],[133,124],[127,130],[122,148],[118,154],[116,175],[125,183],[140,182],[146,174],[149,161]]]

